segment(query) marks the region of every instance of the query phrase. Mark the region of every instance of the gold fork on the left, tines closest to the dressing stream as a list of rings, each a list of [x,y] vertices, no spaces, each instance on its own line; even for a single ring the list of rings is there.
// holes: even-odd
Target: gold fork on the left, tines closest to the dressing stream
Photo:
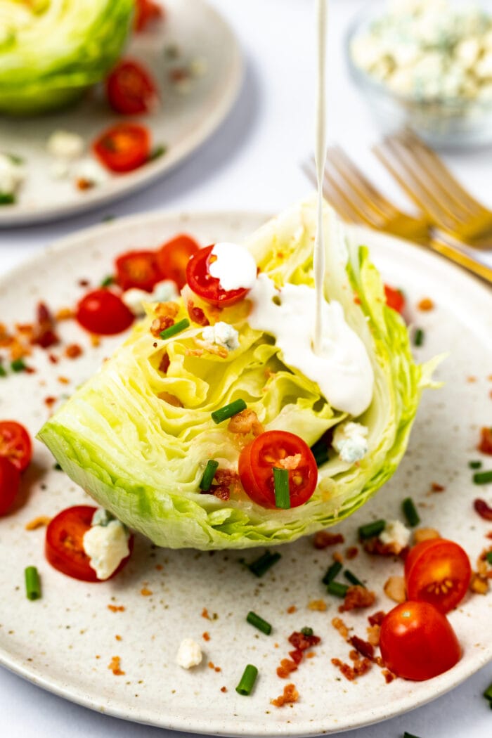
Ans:
[[[304,162],[302,170],[316,187],[313,160]],[[339,147],[328,148],[323,195],[344,221],[365,224],[428,246],[492,284],[490,267],[469,256],[460,246],[449,244],[438,232],[431,232],[426,218],[414,218],[398,210]]]

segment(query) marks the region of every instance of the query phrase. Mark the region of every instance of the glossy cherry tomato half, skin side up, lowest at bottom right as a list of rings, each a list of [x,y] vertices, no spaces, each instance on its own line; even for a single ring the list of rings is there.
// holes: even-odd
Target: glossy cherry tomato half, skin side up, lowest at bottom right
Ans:
[[[461,647],[446,615],[429,602],[403,602],[381,623],[384,666],[403,679],[422,681],[460,661]]]

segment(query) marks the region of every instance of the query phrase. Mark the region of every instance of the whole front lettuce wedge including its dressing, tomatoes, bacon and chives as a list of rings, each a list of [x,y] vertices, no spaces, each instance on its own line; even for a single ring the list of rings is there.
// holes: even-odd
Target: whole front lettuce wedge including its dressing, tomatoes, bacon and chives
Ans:
[[[328,206],[323,227],[319,354],[313,199],[246,249],[209,247],[207,263],[198,252],[181,297],[148,303],[41,429],[69,477],[157,545],[293,541],[356,511],[395,472],[433,365],[413,361],[367,248]],[[210,285],[235,299],[212,304]]]

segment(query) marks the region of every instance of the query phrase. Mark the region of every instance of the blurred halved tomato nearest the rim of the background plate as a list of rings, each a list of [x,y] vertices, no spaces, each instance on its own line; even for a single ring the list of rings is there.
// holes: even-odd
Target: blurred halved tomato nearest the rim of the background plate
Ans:
[[[97,138],[94,154],[113,172],[130,172],[148,161],[150,134],[137,123],[117,123]]]

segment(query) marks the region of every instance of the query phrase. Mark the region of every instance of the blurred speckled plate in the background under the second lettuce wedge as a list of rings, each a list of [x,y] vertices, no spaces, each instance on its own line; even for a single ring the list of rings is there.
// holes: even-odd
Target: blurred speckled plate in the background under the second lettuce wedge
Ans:
[[[91,190],[75,187],[75,177],[53,179],[54,159],[46,152],[52,131],[74,131],[91,142],[108,126],[128,117],[114,114],[102,89],[77,106],[57,114],[26,120],[0,116],[0,151],[25,160],[27,179],[14,205],[0,207],[0,227],[24,226],[74,215],[114,201],[144,187],[195,151],[222,123],[238,96],[243,61],[238,42],[221,15],[202,0],[165,0],[164,21],[131,39],[124,56],[142,61],[159,87],[162,105],[151,115],[131,117],[148,126],[153,145],[165,145],[163,156],[133,172],[114,175]],[[179,57],[167,58],[176,46]],[[198,61],[203,76],[189,89],[170,81],[175,67]],[[186,92],[186,94],[183,94]]]

